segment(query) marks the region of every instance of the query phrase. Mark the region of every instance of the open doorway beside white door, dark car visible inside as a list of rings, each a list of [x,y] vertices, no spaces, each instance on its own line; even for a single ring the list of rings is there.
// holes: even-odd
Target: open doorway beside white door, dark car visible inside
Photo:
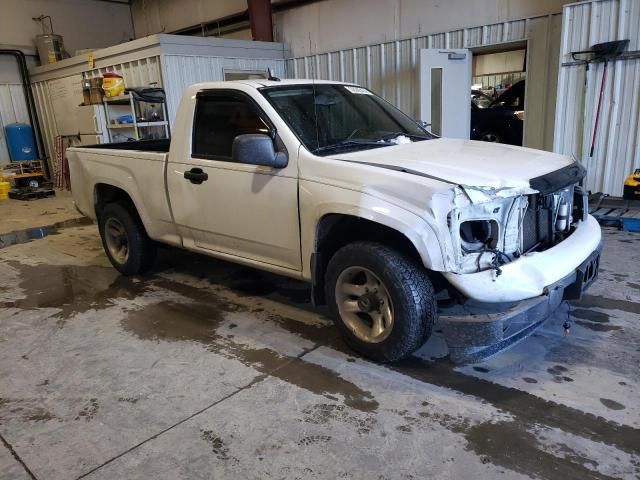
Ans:
[[[523,144],[526,53],[526,43],[473,51],[472,140]]]

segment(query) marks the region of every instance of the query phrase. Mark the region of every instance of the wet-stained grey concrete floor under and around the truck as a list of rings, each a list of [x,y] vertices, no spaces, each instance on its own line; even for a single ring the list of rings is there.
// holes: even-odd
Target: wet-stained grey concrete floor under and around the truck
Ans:
[[[2,479],[640,475],[638,234],[606,230],[589,295],[458,368],[437,334],[358,358],[298,282],[171,249],[124,278],[94,225],[52,233],[0,248]]]

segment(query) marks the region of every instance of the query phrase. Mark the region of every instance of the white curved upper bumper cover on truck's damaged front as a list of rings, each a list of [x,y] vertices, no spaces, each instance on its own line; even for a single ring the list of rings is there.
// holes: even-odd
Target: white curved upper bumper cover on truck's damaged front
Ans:
[[[467,298],[486,303],[518,302],[538,297],[549,285],[570,276],[601,241],[600,225],[588,215],[569,237],[554,247],[502,265],[500,276],[493,270],[465,274],[443,272],[443,275]]]

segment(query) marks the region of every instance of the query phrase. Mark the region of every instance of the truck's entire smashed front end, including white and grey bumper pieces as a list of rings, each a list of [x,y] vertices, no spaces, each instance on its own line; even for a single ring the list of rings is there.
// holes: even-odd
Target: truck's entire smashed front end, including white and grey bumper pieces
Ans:
[[[447,222],[456,271],[443,275],[466,300],[440,315],[453,361],[514,345],[596,279],[600,227],[577,185],[584,169],[573,168],[520,188],[454,187]]]

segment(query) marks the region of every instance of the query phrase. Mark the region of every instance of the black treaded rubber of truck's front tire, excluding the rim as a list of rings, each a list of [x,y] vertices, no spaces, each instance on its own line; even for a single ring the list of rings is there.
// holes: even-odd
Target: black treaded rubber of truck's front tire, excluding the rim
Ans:
[[[382,341],[359,338],[343,321],[336,300],[336,283],[351,267],[364,267],[384,284],[393,305],[390,333]],[[410,356],[431,336],[436,321],[436,296],[425,268],[386,245],[351,243],[336,252],[326,272],[325,293],[329,310],[345,341],[356,352],[379,362]]]

